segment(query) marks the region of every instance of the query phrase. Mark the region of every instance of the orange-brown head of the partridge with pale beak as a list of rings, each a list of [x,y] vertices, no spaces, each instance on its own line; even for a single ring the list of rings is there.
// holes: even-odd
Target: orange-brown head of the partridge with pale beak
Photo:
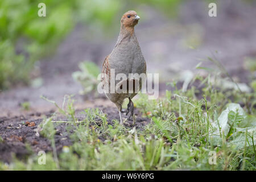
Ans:
[[[121,18],[121,24],[125,27],[134,27],[138,23],[139,19],[140,17],[135,11],[127,11]]]

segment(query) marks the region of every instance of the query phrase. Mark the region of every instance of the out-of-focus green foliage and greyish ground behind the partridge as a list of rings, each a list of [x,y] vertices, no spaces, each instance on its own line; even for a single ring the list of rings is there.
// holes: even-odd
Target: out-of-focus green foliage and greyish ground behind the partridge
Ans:
[[[40,2],[46,17],[38,16]],[[217,17],[208,15],[210,2],[217,4]],[[95,90],[128,10],[141,16],[135,34],[147,72],[160,73],[160,91],[170,88],[167,83],[206,77],[211,60],[218,60],[243,90],[253,92],[254,0],[1,0],[0,116],[47,110],[42,95],[61,103],[65,94],[75,94],[78,105],[104,105],[94,94],[82,94]]]

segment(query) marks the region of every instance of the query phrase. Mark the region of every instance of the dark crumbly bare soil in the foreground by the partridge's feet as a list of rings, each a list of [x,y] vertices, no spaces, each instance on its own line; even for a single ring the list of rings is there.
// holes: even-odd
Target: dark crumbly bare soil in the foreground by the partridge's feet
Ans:
[[[113,119],[119,118],[117,109],[114,107],[97,106],[105,114],[107,114],[108,125],[113,125]],[[50,117],[53,114],[53,110],[48,113],[36,113],[30,115],[21,115],[14,118],[0,118],[0,135],[3,142],[0,142],[0,161],[10,162],[13,156],[18,159],[26,159],[28,155],[36,155],[39,151],[52,151],[51,142],[49,139],[42,136],[36,136],[36,129],[38,125],[43,121],[43,115]],[[135,109],[136,122],[133,125],[133,121],[126,120],[124,126],[132,129],[136,127],[137,130],[143,130],[143,127],[150,122],[150,119],[144,118],[139,113],[138,109]],[[86,115],[82,114],[82,110],[76,110],[76,115],[79,121],[82,121]],[[124,111],[122,113],[123,119],[127,118]],[[67,121],[65,117],[55,117],[54,121]],[[97,125],[101,125],[101,119],[96,118]],[[67,126],[73,125],[71,123],[55,123],[56,135],[55,145],[57,153],[59,153],[63,146],[72,145],[72,139],[70,135],[75,130],[67,131]],[[100,140],[105,140],[104,137],[99,137]]]

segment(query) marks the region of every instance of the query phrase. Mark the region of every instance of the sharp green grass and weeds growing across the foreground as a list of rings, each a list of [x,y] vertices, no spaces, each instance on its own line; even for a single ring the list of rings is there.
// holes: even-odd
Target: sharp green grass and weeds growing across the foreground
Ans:
[[[209,78],[209,77],[208,77]],[[203,78],[197,77],[203,80]],[[210,79],[210,78],[209,78]],[[201,99],[196,93],[201,92]],[[254,93],[214,88],[205,81],[203,90],[192,87],[186,92],[166,91],[158,100],[147,100],[140,94],[134,101],[137,109],[151,122],[142,129],[129,129],[113,120],[99,109],[86,109],[86,117],[78,122],[73,109],[72,97],[65,97],[66,107],[57,106],[59,113],[68,118],[67,129],[73,139],[72,146],[63,147],[56,155],[56,123],[44,119],[39,126],[40,135],[51,141],[53,152],[48,152],[46,165],[39,165],[39,156],[27,160],[15,159],[10,164],[1,164],[1,169],[63,169],[63,170],[255,170],[255,107],[238,107],[228,111],[228,123],[221,124],[221,115],[226,109],[255,102]],[[232,100],[230,99],[232,98]],[[49,101],[49,100],[48,100]],[[66,109],[65,109],[66,108]],[[96,119],[98,118],[98,119]],[[61,122],[61,121],[60,121]],[[218,127],[228,127],[227,134]],[[101,123],[101,125],[97,125]],[[239,130],[239,131],[238,131]],[[214,134],[215,133],[215,134]],[[216,135],[219,133],[219,135]],[[105,140],[101,140],[104,138]],[[210,164],[212,154],[216,164]]]

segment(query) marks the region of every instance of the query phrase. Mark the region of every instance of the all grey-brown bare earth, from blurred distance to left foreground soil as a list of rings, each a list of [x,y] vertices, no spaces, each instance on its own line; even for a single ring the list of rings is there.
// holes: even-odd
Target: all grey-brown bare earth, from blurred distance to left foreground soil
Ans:
[[[144,14],[135,32],[147,61],[147,72],[160,73],[160,92],[171,89],[166,82],[179,80],[185,71],[196,73],[199,59],[207,56],[217,57],[236,81],[247,83],[249,74],[243,64],[245,57],[256,57],[256,5],[232,0],[221,1],[219,5],[218,16],[210,18],[207,4],[188,1],[180,7],[177,19],[167,18],[152,7],[138,7]],[[92,36],[88,38],[88,35]],[[71,76],[79,70],[81,61],[93,61],[101,67],[117,35],[118,30],[113,37],[92,34],[88,27],[78,24],[60,44],[55,55],[40,60],[36,65],[36,75],[43,80],[39,88],[18,86],[0,92],[0,135],[4,140],[0,143],[0,160],[9,162],[11,153],[19,158],[29,154],[27,143],[35,152],[51,150],[49,140],[36,137],[34,131],[42,122],[43,115],[49,116],[56,110],[54,105],[42,100],[41,95],[61,105],[65,94],[75,94],[77,111],[100,106],[108,114],[109,122],[119,118],[114,104],[105,96],[80,96],[82,88]],[[195,49],[189,48],[188,42]],[[204,65],[212,66],[209,63]],[[22,109],[23,102],[30,103],[30,110]],[[142,118],[138,110],[136,112],[136,126],[141,128],[149,121]],[[35,126],[26,126],[26,122],[34,122]],[[65,133],[65,124],[57,126],[57,129],[59,134],[55,140],[60,151],[64,145],[72,144],[72,140],[60,135]]]

